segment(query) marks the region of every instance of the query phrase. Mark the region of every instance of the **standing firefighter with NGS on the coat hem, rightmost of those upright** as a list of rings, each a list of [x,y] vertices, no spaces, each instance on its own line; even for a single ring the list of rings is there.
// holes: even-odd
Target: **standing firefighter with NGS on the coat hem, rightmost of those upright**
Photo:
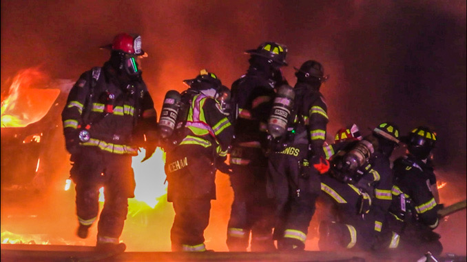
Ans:
[[[276,202],[274,239],[278,250],[304,250],[320,173],[329,169],[322,150],[329,121],[320,86],[327,79],[321,63],[309,60],[295,68],[292,123],[272,143],[269,158],[271,193]]]

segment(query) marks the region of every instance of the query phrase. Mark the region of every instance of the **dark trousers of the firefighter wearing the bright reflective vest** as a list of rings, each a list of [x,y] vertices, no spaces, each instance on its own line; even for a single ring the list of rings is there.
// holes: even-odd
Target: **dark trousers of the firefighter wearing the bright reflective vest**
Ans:
[[[167,201],[174,205],[172,251],[203,252],[211,199],[216,199],[213,152],[200,145],[178,145],[167,152]]]

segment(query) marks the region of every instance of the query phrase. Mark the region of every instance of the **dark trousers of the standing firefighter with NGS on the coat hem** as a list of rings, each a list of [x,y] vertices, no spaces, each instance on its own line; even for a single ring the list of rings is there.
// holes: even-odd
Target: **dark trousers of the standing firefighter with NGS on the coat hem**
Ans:
[[[319,173],[308,161],[307,144],[271,154],[268,188],[276,201],[274,239],[278,249],[303,250],[320,194]]]

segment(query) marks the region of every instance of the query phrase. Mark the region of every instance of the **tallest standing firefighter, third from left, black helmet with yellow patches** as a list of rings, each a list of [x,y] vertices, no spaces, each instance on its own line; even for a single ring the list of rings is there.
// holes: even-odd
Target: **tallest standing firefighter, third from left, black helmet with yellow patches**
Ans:
[[[250,54],[247,74],[231,86],[235,105],[235,132],[230,154],[234,203],[227,225],[230,251],[275,250],[272,239],[273,203],[266,194],[267,119],[275,88],[287,83],[280,68],[287,66],[287,47],[275,42],[261,43]]]

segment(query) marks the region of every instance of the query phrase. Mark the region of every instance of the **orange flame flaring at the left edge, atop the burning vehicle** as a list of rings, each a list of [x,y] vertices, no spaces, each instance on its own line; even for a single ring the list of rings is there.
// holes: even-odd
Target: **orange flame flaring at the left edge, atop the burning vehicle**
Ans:
[[[38,68],[28,68],[13,79],[8,96],[1,101],[1,128],[25,127],[42,119],[59,96],[58,89],[43,89],[48,77]],[[42,85],[41,88],[38,85]]]

